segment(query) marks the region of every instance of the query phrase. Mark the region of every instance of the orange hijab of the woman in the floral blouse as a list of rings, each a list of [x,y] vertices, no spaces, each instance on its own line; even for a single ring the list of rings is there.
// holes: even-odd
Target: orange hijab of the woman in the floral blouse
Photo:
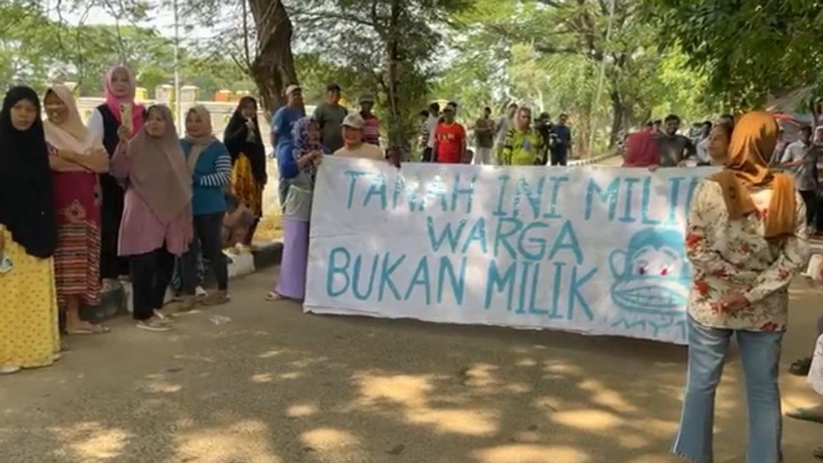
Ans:
[[[728,161],[712,179],[723,189],[723,199],[731,220],[741,220],[756,212],[751,190],[772,189],[765,217],[765,237],[778,238],[794,233],[794,180],[790,175],[769,171],[769,159],[777,144],[774,117],[764,111],[743,115],[732,132]]]

